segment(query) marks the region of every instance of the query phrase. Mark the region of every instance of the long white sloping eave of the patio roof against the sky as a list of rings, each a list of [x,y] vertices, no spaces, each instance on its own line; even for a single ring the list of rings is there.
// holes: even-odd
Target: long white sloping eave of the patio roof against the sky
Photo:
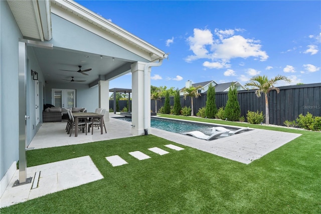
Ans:
[[[112,22],[69,0],[51,0],[51,12],[149,61],[167,55]]]

